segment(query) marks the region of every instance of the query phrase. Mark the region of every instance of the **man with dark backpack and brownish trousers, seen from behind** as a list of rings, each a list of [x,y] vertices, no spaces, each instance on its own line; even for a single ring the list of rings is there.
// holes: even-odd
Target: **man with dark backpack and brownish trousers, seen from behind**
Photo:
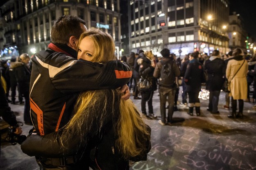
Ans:
[[[159,92],[160,92],[160,112],[161,120],[158,122],[161,125],[172,123],[172,115],[174,112],[174,95],[176,93],[177,85],[175,78],[180,75],[178,65],[173,60],[173,54],[170,55],[170,50],[164,48],[161,51],[163,59],[156,64],[153,76],[159,78]],[[168,117],[166,122],[165,104],[168,96]]]

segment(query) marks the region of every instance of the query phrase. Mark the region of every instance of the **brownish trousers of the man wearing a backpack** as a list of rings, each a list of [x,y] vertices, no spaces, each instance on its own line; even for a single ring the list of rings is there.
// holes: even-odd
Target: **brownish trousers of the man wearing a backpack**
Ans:
[[[166,97],[168,97],[168,117],[167,117],[167,122],[171,123],[172,121],[172,115],[174,112],[174,95],[176,93],[176,89],[167,89],[167,88],[161,88],[160,87],[160,112],[161,112],[161,121],[165,123],[166,119],[166,109],[165,109],[165,104],[166,104]]]

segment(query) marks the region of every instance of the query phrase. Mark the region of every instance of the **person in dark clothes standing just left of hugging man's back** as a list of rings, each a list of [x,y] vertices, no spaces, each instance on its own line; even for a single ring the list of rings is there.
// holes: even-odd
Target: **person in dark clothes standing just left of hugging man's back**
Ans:
[[[24,107],[24,122],[27,125],[32,125],[30,119],[30,106],[29,106],[29,83],[31,72],[27,66],[29,63],[30,57],[28,54],[23,53],[18,58],[19,62],[13,67],[14,74],[18,83],[18,88],[20,93],[25,98],[25,107]]]

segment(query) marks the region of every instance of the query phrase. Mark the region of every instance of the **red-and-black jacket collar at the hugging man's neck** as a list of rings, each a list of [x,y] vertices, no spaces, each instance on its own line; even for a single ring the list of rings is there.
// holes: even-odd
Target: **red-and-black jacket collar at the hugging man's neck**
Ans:
[[[48,48],[50,48],[56,52],[62,52],[62,53],[67,54],[68,56],[71,56],[73,58],[77,58],[77,51],[75,51],[71,47],[68,47],[68,45],[58,44],[58,43],[50,43],[48,45]]]

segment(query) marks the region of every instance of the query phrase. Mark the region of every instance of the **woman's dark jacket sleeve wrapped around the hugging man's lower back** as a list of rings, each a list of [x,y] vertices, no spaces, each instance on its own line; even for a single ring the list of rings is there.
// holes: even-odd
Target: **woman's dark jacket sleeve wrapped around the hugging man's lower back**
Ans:
[[[93,117],[93,121],[90,122],[90,125],[87,124],[88,121],[83,121],[81,125],[82,134],[72,133],[71,131],[64,135],[61,134],[61,131],[52,132],[44,136],[31,134],[21,144],[21,150],[29,156],[50,158],[67,157],[82,152],[88,145],[88,142],[98,134],[100,127],[112,120],[113,114],[110,113],[111,108],[108,107],[105,111],[102,109],[103,103],[109,102],[110,100],[113,100],[110,96],[108,99],[101,97],[94,106],[88,108],[91,110],[89,116]],[[104,119],[100,119],[102,117]],[[63,145],[61,144],[61,135],[63,137]]]

